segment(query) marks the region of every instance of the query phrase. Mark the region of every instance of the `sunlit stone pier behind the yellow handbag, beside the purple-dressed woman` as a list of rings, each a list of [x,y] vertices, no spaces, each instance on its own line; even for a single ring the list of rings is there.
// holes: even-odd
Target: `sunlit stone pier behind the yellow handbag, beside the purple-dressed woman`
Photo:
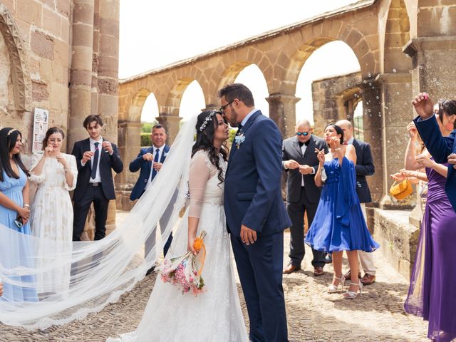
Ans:
[[[415,197],[410,196],[400,202],[389,195],[393,180],[389,175],[404,167],[405,147],[408,142],[407,125],[413,120],[412,76],[410,73],[383,73],[376,80],[381,85],[381,130],[383,150],[383,207],[411,209]]]

